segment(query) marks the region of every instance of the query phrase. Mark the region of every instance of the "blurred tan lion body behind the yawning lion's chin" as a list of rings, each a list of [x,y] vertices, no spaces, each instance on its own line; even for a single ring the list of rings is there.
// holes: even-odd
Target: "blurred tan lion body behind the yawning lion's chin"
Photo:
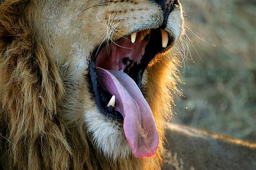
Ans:
[[[163,170],[255,170],[256,142],[186,125],[166,125]]]

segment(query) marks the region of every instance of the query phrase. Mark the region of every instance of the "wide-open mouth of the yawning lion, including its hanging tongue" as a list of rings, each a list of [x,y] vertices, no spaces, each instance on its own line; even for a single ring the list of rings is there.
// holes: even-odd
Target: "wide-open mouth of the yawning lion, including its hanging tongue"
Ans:
[[[90,82],[99,110],[123,121],[125,137],[134,156],[149,157],[158,147],[153,113],[141,92],[145,68],[173,43],[162,29],[143,30],[93,52]]]

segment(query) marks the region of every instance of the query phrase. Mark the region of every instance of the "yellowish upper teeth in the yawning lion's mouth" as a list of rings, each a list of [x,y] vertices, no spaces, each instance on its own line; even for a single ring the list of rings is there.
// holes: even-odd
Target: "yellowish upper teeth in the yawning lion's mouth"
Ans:
[[[160,29],[160,31],[162,34],[162,46],[163,48],[166,48],[169,41],[168,33],[163,29]],[[136,40],[136,37],[137,37],[137,40],[141,42],[142,40],[144,40],[147,34],[150,34],[150,32],[151,32],[151,29],[140,31],[139,32],[140,34],[138,37],[137,37],[137,32],[131,34],[131,42],[134,43]]]

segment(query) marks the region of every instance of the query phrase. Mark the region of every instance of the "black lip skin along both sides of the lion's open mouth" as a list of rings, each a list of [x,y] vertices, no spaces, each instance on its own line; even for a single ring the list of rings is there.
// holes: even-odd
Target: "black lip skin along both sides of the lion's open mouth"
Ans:
[[[149,38],[149,36],[146,38]],[[172,43],[172,41],[169,41],[169,44],[170,43]],[[100,88],[97,82],[97,74],[95,71],[96,58],[99,54],[99,51],[101,51],[106,44],[107,43],[101,45],[99,48],[96,48],[96,50],[93,51],[92,59],[89,62],[90,85],[99,110],[102,111],[102,113],[106,116],[109,116],[113,119],[117,119],[119,121],[123,121],[121,113],[119,113],[118,111],[114,111],[114,108],[107,108],[106,105],[111,99],[111,95],[108,92],[104,91],[102,88]],[[136,82],[140,89],[145,68],[148,66],[150,61],[163,50],[164,48],[162,47],[161,31],[160,29],[153,29],[151,31],[148,44],[145,47],[145,54],[143,55],[141,62],[134,63],[134,65],[130,68],[129,71],[124,70],[125,73],[127,73],[132,79],[134,79],[134,81]]]

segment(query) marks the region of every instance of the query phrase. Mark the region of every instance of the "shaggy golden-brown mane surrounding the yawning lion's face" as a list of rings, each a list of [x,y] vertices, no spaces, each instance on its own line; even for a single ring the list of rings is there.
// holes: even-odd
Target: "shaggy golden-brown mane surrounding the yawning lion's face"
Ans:
[[[36,38],[37,18],[27,13],[27,3],[6,0],[0,5],[0,167],[159,169],[163,159],[163,121],[168,118],[172,102],[167,94],[177,92],[177,75],[168,79],[165,75],[177,68],[177,59],[160,56],[147,69],[146,99],[160,136],[157,154],[147,159],[106,159],[95,148],[84,121],[67,123],[60,113],[67,87],[47,42]]]

